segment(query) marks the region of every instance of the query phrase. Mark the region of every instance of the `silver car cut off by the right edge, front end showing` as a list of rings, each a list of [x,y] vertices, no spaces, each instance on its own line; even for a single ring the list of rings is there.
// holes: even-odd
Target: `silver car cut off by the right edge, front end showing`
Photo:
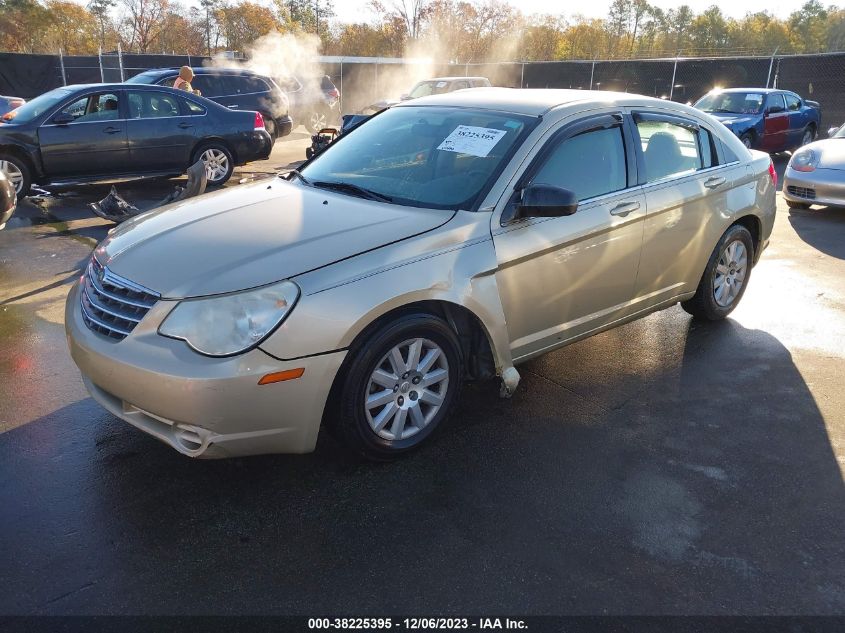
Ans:
[[[793,209],[845,207],[845,126],[797,150],[786,166],[783,197]]]

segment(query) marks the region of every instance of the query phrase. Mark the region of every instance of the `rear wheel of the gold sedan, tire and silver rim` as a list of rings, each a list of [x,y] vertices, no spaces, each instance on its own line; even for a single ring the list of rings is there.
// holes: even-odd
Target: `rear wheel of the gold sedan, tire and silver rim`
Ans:
[[[753,261],[751,233],[744,226],[734,224],[713,249],[695,296],[681,302],[681,307],[697,319],[724,319],[745,294]]]

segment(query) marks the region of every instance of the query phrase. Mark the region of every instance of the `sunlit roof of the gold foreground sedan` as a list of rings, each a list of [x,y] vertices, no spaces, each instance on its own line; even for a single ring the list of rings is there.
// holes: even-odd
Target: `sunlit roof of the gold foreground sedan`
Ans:
[[[394,107],[405,108],[421,105],[458,106],[501,110],[515,114],[540,116],[558,106],[573,103],[596,105],[666,105],[663,99],[645,97],[626,92],[605,90],[568,90],[549,88],[469,88],[456,92],[421,97],[403,101]],[[675,104],[684,109],[680,104]]]

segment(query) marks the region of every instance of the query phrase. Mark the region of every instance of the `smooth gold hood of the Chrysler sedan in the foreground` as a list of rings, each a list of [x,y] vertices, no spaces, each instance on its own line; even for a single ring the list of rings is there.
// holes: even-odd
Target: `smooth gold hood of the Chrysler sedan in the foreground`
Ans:
[[[112,231],[96,255],[162,297],[198,297],[295,277],[431,231],[453,215],[275,178],[138,216]]]

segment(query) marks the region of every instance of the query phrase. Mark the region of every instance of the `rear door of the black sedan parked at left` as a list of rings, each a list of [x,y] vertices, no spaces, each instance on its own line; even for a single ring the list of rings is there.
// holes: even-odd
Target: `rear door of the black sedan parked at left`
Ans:
[[[126,98],[131,171],[184,170],[195,133],[184,100],[157,90],[127,90]]]

